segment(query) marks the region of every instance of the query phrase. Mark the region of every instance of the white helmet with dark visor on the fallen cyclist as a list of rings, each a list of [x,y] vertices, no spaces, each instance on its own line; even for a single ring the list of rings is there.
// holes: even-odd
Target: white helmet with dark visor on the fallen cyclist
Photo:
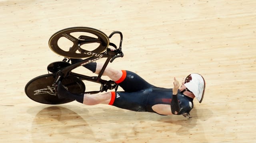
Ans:
[[[197,73],[189,74],[185,79],[184,85],[194,94],[199,103],[201,103],[204,98],[205,90],[204,78]]]

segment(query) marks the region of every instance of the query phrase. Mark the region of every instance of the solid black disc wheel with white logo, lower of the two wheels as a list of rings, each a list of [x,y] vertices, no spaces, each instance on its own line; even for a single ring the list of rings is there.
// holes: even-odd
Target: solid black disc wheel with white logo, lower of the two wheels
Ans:
[[[30,80],[25,86],[26,95],[42,104],[65,104],[74,100],[59,99],[54,95],[55,87],[52,84],[55,81],[55,74],[44,74]],[[84,93],[85,85],[82,80],[75,76],[67,76],[62,80],[62,84],[73,94]]]

